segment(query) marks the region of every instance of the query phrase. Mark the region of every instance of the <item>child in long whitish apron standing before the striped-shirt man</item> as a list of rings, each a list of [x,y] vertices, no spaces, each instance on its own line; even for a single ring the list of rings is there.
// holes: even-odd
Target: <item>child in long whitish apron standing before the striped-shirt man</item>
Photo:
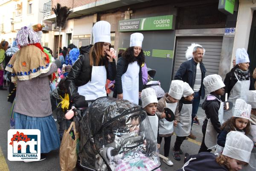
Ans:
[[[183,97],[178,103],[180,122],[177,127],[174,128],[176,134],[176,141],[173,147],[173,157],[175,160],[180,160],[180,154],[183,152],[180,149],[182,142],[189,136],[191,131],[191,113],[192,113],[192,101],[194,99],[194,91],[188,83],[184,82]]]

